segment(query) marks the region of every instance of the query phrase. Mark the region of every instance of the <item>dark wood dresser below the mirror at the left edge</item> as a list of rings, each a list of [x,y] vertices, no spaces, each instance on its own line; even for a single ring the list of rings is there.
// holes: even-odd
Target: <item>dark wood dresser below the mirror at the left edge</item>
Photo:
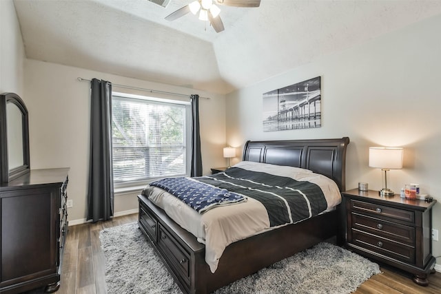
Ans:
[[[0,186],[0,293],[60,286],[68,168],[33,169]]]

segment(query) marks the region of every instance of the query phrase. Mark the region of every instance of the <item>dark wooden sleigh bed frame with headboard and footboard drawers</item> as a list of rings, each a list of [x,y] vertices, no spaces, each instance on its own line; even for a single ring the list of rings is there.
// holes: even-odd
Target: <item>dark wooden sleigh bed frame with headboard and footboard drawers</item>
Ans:
[[[248,141],[243,160],[309,169],[345,191],[349,138]],[[229,244],[214,273],[205,262],[205,245],[165,211],[139,195],[139,228],[161,256],[184,293],[211,293],[319,242],[343,241],[339,209]],[[142,254],[142,253],[141,253]]]

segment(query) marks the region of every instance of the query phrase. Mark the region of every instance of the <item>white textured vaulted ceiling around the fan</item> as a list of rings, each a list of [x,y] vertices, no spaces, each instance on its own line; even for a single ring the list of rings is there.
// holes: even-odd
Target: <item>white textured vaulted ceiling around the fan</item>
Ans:
[[[216,34],[147,0],[14,0],[29,59],[226,94],[441,14],[439,0],[261,0],[220,6]]]

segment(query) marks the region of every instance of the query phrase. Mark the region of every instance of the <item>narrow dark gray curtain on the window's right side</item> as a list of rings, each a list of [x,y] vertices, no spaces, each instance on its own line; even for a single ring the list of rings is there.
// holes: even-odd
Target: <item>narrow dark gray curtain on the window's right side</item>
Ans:
[[[192,101],[192,171],[190,176],[202,176],[201,135],[199,130],[199,95],[191,95]]]

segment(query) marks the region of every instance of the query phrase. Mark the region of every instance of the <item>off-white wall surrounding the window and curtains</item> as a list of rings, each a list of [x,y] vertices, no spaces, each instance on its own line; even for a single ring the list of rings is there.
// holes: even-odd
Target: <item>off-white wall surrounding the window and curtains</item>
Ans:
[[[86,218],[89,169],[90,83],[77,81],[77,77],[209,97],[209,100],[200,99],[199,103],[203,172],[209,174],[210,167],[225,166],[222,158],[226,133],[225,96],[28,59],[25,61],[23,97],[29,110],[30,164],[32,169],[70,167],[68,197],[74,202],[68,213],[70,224],[83,222]],[[149,94],[116,86],[112,89]],[[137,193],[139,191],[115,196],[115,214],[136,209]]]

